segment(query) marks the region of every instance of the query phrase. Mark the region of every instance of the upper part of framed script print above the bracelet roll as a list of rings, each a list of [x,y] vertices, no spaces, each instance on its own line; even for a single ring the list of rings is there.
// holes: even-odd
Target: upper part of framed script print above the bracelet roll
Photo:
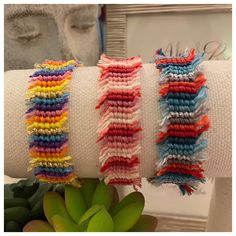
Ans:
[[[230,4],[108,5],[107,54],[149,62],[158,48],[177,56],[194,47],[207,60],[229,59],[231,12]]]

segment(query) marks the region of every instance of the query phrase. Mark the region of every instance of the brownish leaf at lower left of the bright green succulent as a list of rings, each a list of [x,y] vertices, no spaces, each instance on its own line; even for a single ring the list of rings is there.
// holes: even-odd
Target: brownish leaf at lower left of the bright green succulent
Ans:
[[[46,221],[32,220],[24,226],[23,232],[54,232],[54,229]]]

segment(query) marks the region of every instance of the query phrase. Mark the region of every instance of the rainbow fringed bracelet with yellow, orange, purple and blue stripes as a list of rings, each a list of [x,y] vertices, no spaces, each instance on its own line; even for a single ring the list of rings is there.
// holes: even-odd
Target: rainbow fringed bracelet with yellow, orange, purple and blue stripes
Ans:
[[[36,64],[30,76],[26,112],[29,135],[29,170],[40,181],[79,185],[68,147],[69,82],[75,60]]]

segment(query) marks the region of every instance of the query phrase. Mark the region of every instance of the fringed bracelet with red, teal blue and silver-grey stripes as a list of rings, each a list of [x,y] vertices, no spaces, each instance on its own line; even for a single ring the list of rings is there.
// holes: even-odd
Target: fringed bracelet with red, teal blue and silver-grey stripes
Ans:
[[[207,139],[202,133],[209,128],[209,118],[201,61],[202,55],[194,49],[177,58],[165,56],[161,49],[156,53],[163,120],[157,135],[157,171],[149,180],[157,185],[176,184],[183,195],[205,182],[202,151]]]

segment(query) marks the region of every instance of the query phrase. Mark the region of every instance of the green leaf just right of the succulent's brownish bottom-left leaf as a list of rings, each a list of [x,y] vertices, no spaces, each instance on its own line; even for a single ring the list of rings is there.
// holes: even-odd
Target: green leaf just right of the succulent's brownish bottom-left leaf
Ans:
[[[79,227],[69,218],[54,215],[52,217],[53,226],[56,232],[79,232]]]

